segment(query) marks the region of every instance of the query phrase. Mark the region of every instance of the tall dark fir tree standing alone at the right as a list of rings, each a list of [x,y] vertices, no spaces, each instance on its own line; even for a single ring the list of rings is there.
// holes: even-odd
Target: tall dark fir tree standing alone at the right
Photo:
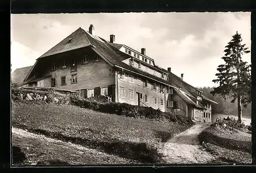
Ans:
[[[241,122],[242,106],[246,107],[251,102],[251,65],[242,61],[242,55],[250,53],[248,47],[242,44],[241,34],[238,32],[232,36],[232,40],[225,46],[225,55],[222,59],[225,64],[218,66],[217,79],[212,80],[218,83],[210,93],[220,95],[225,100],[231,98],[231,103],[238,102],[238,120]]]

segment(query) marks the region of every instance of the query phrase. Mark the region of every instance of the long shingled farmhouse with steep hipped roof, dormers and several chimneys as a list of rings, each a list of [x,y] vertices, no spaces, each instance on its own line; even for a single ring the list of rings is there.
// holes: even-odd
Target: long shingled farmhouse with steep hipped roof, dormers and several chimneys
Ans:
[[[30,67],[12,73],[12,86],[56,87],[82,97],[112,96],[113,102],[175,112],[195,121],[211,122],[211,105],[202,91],[183,81],[153,58],[79,28],[40,56]]]

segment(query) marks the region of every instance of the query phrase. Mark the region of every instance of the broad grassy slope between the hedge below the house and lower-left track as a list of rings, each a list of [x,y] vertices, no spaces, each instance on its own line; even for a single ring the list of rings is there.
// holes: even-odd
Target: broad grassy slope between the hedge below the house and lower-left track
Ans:
[[[161,162],[156,146],[186,130],[169,121],[134,119],[75,106],[12,103],[12,125],[146,163]]]

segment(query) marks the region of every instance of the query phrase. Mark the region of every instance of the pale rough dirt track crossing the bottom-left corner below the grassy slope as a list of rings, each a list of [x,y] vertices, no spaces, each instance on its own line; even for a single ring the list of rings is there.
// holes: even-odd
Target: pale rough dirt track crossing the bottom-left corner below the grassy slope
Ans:
[[[12,144],[25,153],[24,164],[60,160],[68,164],[129,164],[135,161],[106,154],[70,142],[48,138],[22,129],[12,128]]]

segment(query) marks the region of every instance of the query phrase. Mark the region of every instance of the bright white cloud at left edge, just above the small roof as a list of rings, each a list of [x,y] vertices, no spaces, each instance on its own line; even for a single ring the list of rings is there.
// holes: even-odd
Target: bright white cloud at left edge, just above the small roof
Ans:
[[[39,55],[38,52],[31,50],[31,48],[13,41],[11,43],[11,71],[16,68],[34,65]]]

